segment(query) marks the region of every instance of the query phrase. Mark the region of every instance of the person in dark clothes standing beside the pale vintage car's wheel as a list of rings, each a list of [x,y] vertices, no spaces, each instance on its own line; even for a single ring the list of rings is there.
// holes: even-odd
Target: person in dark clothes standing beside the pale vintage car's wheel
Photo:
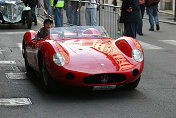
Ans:
[[[38,5],[38,0],[25,0],[25,5],[31,8],[31,13],[34,21],[34,25],[37,25],[37,17],[35,14],[35,7]]]

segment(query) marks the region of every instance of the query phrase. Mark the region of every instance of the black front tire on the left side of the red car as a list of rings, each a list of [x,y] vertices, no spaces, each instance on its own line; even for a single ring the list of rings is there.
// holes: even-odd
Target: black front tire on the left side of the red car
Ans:
[[[41,61],[41,77],[43,81],[43,88],[47,93],[51,93],[54,90],[54,80],[52,79],[46,68],[43,57],[41,57]]]

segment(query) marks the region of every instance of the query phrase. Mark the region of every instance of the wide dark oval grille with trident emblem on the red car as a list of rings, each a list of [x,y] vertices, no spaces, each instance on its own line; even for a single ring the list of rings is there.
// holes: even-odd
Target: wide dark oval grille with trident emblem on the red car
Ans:
[[[123,74],[98,74],[84,78],[85,84],[110,84],[123,82],[126,79]]]

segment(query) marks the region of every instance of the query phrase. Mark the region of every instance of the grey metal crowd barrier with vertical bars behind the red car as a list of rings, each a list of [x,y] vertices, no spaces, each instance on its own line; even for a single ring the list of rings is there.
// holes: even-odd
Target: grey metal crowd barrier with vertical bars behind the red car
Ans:
[[[86,25],[85,19],[85,3],[89,3],[88,1],[81,1],[80,2],[80,9],[79,9],[79,25]],[[91,3],[90,3],[91,4]],[[48,15],[45,8],[43,7],[42,2],[39,1],[39,8],[37,15],[42,18],[53,18],[52,16]],[[97,10],[97,24],[99,26],[104,26],[107,30],[108,34],[111,37],[118,38],[123,35],[124,26],[122,23],[119,23],[120,18],[120,7],[107,5],[107,4],[100,4]],[[63,26],[72,26],[73,24],[67,23],[66,11],[63,10]]]

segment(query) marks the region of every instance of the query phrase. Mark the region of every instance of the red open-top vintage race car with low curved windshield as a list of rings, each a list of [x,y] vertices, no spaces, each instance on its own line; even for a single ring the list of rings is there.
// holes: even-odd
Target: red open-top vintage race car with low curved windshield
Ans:
[[[51,90],[53,80],[92,89],[134,89],[144,67],[144,52],[136,39],[111,38],[101,26],[53,28],[44,39],[31,30],[24,34],[22,54],[27,73],[38,72],[46,90]]]

